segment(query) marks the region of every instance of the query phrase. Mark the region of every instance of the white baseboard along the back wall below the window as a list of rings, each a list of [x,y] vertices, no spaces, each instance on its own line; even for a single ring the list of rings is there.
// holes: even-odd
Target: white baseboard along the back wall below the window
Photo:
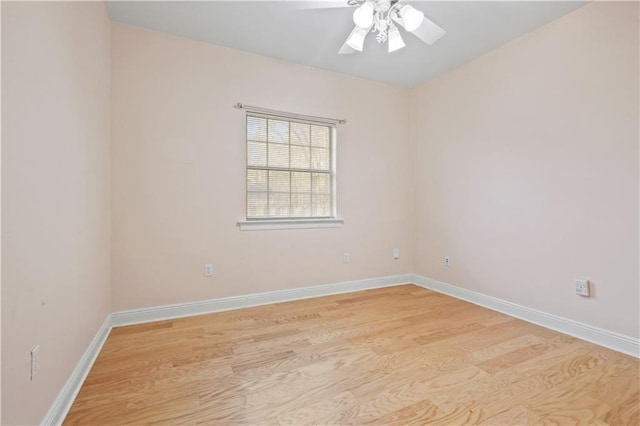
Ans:
[[[294,288],[290,290],[254,293],[245,296],[224,297],[221,299],[177,303],[173,305],[154,306],[150,308],[120,311],[112,313],[111,319],[113,326],[119,327],[123,325],[142,324],[145,322],[162,321],[167,319],[190,317],[194,315],[210,314],[214,312],[230,311],[233,309],[268,305],[271,303],[329,296],[332,294],[351,293],[354,291],[369,290],[381,287],[392,287],[408,283],[411,283],[410,274],[394,275],[390,277],[347,281],[336,284],[324,284],[312,287]]]

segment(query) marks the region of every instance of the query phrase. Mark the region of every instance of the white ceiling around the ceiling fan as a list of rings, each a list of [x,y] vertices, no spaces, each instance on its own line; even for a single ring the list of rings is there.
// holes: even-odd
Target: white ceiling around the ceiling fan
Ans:
[[[364,51],[339,55],[353,8],[304,9],[297,1],[108,1],[111,20],[298,64],[415,86],[571,12],[577,1],[407,1],[447,31],[432,46],[401,30],[407,47],[387,53],[369,35]],[[335,2],[332,2],[335,5]],[[346,5],[346,0],[344,0]],[[301,7],[304,6],[304,7]]]

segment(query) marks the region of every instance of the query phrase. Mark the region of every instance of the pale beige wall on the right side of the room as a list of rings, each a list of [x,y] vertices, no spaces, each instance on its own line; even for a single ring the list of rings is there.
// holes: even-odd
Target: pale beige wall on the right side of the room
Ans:
[[[638,75],[592,3],[414,90],[414,271],[637,338]]]

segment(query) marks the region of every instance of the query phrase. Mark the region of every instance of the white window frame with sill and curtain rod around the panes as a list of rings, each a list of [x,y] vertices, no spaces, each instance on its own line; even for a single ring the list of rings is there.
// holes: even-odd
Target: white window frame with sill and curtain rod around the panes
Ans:
[[[337,129],[336,124],[344,123],[344,120],[332,120],[332,119],[321,119],[317,117],[310,116],[302,116],[299,114],[290,114],[283,113],[280,111],[266,110],[263,108],[256,107],[248,107],[246,105],[238,104],[238,108],[244,108],[247,110],[245,114],[245,146],[248,146],[246,134],[247,134],[247,119],[249,116],[258,116],[267,119],[274,120],[283,120],[288,122],[295,123],[304,123],[311,125],[321,125],[329,127],[330,129],[330,145],[329,145],[329,159],[330,159],[330,170],[329,170],[329,179],[331,185],[331,215],[329,217],[291,217],[291,218],[249,218],[247,217],[248,212],[248,187],[247,187],[247,170],[249,170],[250,166],[248,165],[248,157],[247,151],[245,149],[245,161],[244,161],[244,179],[245,179],[245,206],[244,206],[244,218],[238,221],[238,225],[240,230],[248,231],[248,230],[272,230],[272,229],[307,229],[307,228],[338,228],[343,224],[343,220],[338,218],[337,216],[337,173],[336,173],[336,139],[337,139]],[[316,119],[317,118],[317,119]],[[295,171],[295,169],[291,169]]]

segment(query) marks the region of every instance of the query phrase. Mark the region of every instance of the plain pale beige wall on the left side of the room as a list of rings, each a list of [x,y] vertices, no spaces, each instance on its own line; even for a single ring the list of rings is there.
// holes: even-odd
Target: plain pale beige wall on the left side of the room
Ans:
[[[40,422],[110,311],[108,52],[101,2],[2,2],[2,424]]]

